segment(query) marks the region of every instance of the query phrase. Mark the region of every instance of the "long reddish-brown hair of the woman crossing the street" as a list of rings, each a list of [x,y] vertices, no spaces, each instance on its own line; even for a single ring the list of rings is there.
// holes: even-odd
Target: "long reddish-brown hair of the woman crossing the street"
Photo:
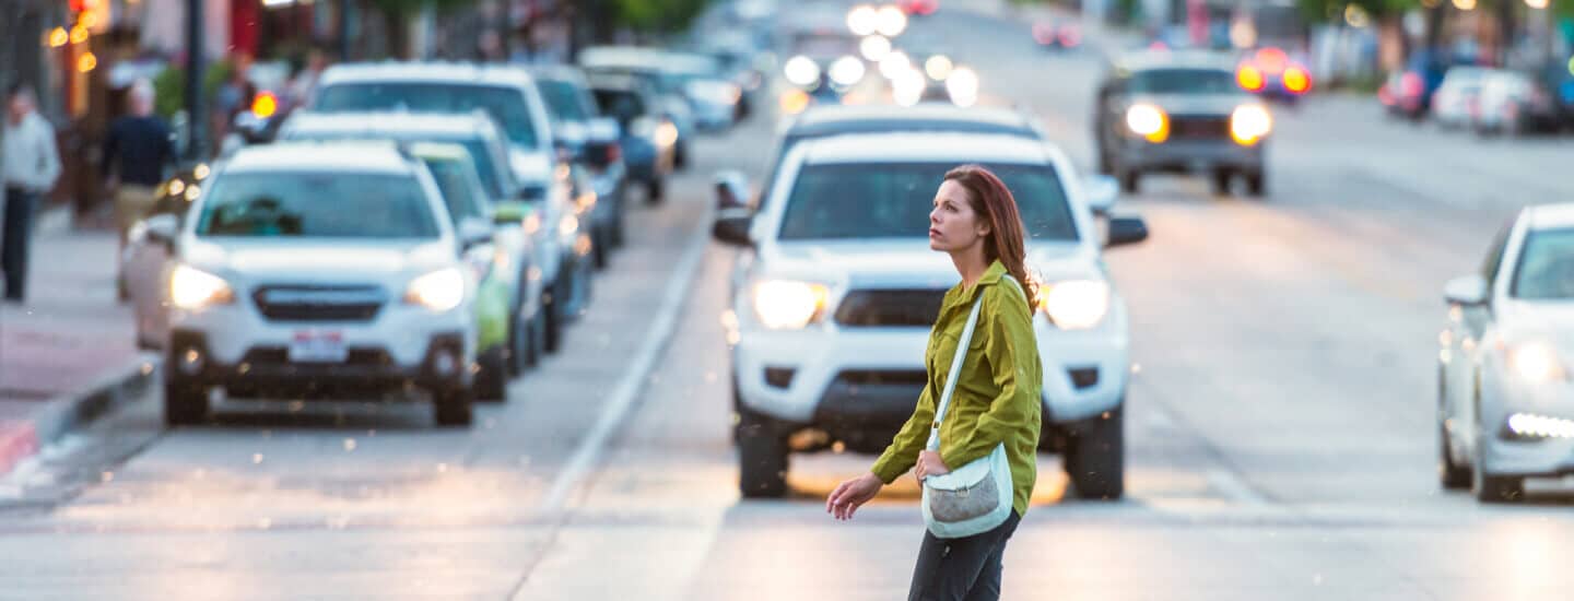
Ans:
[[[1022,225],[1022,212],[1017,211],[1017,198],[1011,195],[1011,189],[982,165],[952,168],[946,171],[946,181],[962,184],[968,190],[968,206],[990,225],[984,241],[984,263],[998,260],[1004,264],[1028,293],[1028,310],[1037,310],[1039,280],[1028,274],[1028,244],[1023,233],[1026,228]]]

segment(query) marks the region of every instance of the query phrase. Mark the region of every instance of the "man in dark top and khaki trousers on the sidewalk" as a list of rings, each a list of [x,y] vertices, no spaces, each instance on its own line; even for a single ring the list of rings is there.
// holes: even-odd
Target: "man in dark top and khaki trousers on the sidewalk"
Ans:
[[[129,113],[110,123],[109,140],[104,143],[104,171],[109,178],[104,187],[115,192],[115,228],[120,230],[123,250],[131,227],[153,212],[157,203],[154,192],[164,181],[165,168],[175,167],[170,126],[153,113],[153,83],[134,83]]]

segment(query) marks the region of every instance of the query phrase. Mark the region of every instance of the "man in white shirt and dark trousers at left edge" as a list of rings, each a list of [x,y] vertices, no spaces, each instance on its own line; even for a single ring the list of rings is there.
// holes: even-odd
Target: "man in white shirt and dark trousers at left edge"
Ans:
[[[5,184],[5,223],[0,227],[0,271],[5,272],[5,300],[20,304],[27,293],[27,249],[33,238],[38,200],[60,178],[55,127],[38,115],[38,96],[25,83],[6,93],[5,154],[0,184]]]

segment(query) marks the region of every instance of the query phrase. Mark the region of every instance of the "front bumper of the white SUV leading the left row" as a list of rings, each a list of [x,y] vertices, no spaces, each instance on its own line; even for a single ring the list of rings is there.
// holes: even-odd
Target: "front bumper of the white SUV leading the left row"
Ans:
[[[474,305],[433,313],[387,305],[371,321],[264,319],[244,302],[172,312],[167,373],[206,385],[356,395],[405,385],[469,385],[477,354]],[[337,332],[348,356],[296,360],[301,332]]]

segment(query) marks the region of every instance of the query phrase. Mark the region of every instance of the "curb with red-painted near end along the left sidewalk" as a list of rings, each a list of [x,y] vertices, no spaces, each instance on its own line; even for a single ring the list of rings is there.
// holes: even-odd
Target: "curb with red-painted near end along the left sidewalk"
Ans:
[[[38,455],[44,445],[142,396],[154,382],[157,365],[156,359],[132,357],[82,389],[41,403],[31,417],[0,423],[0,475]]]

